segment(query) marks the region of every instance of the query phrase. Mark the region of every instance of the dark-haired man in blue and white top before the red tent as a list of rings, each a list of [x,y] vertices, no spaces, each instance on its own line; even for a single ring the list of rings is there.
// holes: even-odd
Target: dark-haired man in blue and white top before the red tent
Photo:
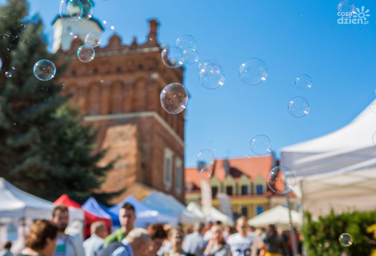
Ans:
[[[65,205],[56,206],[52,211],[51,222],[58,227],[58,239],[54,256],[83,256],[85,251],[79,237],[65,234],[68,226],[69,213]]]

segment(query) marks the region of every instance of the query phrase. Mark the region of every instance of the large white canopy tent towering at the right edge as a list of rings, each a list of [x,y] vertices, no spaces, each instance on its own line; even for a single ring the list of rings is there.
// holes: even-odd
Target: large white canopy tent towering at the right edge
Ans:
[[[345,127],[280,150],[281,165],[297,176],[294,193],[305,210],[317,217],[331,208],[376,208],[375,131],[376,113],[368,106]]]

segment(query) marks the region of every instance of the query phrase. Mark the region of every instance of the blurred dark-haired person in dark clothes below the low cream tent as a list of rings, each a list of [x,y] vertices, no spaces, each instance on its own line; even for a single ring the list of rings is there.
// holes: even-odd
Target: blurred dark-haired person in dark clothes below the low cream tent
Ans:
[[[265,256],[272,254],[273,256],[287,256],[287,243],[285,243],[284,238],[277,234],[276,227],[273,224],[267,227],[267,236],[264,242],[267,247],[268,253]]]

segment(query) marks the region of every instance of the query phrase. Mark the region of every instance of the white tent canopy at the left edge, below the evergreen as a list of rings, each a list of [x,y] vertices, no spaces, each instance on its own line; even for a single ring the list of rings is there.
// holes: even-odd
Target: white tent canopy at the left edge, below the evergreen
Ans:
[[[0,218],[50,219],[52,202],[30,195],[0,178]]]

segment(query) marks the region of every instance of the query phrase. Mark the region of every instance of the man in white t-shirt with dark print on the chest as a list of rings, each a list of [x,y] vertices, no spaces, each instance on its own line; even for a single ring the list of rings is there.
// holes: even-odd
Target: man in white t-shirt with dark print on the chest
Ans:
[[[227,238],[232,256],[256,256],[257,251],[265,249],[265,244],[257,235],[247,235],[247,219],[241,216],[237,219],[236,230],[238,233]]]

